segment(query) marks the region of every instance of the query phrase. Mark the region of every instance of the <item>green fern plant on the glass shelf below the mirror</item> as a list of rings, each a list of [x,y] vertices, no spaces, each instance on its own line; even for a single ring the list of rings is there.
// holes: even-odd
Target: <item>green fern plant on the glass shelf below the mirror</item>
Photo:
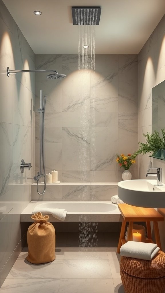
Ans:
[[[135,156],[142,154],[143,156],[147,153],[153,152],[152,156],[156,154],[157,151],[160,149],[165,148],[165,132],[163,131],[163,138],[159,137],[159,132],[155,130],[153,134],[150,134],[147,132],[147,134],[143,133],[143,136],[146,137],[146,142],[138,142],[139,143],[139,149],[137,152],[135,152]]]

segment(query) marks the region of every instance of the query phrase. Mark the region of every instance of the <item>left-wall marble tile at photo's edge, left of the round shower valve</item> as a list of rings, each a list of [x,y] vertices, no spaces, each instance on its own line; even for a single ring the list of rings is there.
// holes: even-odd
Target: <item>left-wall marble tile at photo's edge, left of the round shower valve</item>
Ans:
[[[13,180],[13,126],[0,123],[0,196],[12,189]]]

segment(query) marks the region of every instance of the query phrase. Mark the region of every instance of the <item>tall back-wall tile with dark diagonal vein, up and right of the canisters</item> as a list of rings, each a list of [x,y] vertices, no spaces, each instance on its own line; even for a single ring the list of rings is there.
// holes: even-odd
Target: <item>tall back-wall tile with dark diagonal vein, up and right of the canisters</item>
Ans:
[[[90,130],[63,127],[63,170],[90,170]]]

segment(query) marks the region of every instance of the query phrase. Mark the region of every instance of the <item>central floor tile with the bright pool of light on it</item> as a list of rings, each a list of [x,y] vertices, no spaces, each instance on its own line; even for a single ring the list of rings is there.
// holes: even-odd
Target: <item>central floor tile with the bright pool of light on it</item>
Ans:
[[[64,260],[62,279],[112,279],[107,260]]]

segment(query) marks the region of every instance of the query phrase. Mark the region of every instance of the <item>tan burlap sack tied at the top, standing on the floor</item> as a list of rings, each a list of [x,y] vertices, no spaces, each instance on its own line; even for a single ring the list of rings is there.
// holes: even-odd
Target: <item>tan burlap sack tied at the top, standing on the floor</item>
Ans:
[[[30,263],[49,263],[55,259],[55,229],[48,223],[49,216],[40,212],[31,216],[36,221],[28,228],[28,256]]]

